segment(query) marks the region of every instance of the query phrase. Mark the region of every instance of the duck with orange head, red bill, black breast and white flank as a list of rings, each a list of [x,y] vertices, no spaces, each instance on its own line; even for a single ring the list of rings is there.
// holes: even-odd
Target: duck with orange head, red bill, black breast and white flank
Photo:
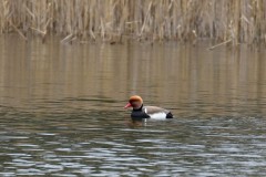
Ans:
[[[129,103],[124,106],[124,108],[129,107],[133,107],[131,113],[132,118],[166,119],[174,117],[168,110],[157,106],[144,106],[143,100],[139,95],[133,95],[130,97]]]

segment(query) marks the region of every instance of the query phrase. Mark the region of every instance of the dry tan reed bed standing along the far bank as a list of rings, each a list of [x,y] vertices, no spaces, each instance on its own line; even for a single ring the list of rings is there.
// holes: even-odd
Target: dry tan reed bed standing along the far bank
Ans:
[[[62,42],[266,42],[265,0],[2,0],[1,33],[62,35]]]

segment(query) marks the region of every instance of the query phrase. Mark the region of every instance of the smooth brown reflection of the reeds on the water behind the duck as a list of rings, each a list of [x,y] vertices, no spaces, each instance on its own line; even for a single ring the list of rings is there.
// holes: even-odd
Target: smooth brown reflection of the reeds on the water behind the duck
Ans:
[[[55,41],[1,39],[2,105],[31,108],[55,101],[57,108],[120,110],[129,95],[140,94],[146,104],[162,104],[180,116],[265,113],[263,50]]]

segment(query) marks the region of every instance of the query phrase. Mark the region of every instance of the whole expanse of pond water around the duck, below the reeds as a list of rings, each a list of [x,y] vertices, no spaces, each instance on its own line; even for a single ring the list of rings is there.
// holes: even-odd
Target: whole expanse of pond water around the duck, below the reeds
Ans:
[[[265,50],[58,40],[0,39],[0,176],[265,176]]]

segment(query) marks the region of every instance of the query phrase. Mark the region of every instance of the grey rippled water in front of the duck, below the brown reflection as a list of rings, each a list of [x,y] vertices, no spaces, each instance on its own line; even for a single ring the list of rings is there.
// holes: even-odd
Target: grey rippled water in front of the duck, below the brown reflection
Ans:
[[[0,175],[243,176],[266,173],[265,119],[259,117],[191,117],[126,127],[124,118],[112,119],[112,114],[96,119],[94,116],[84,118],[73,114],[65,118],[60,114],[57,118],[49,115],[47,119],[38,119],[29,115],[27,127],[21,126],[23,118],[2,124]]]

